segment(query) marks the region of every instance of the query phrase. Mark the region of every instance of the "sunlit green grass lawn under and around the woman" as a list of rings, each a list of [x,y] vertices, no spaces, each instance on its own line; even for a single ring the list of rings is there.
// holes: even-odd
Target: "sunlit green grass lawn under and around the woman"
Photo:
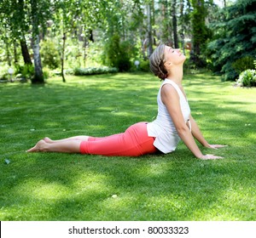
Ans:
[[[183,143],[165,156],[25,153],[45,136],[152,121],[160,82],[149,74],[0,84],[0,220],[255,220],[256,88],[209,74],[183,84],[208,141],[229,145],[201,150],[224,160],[198,160]]]

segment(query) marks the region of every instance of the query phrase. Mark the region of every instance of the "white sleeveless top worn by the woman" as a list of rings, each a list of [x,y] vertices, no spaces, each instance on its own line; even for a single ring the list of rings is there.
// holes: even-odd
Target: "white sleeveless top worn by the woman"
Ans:
[[[166,78],[165,81],[162,82],[159,93],[157,95],[158,115],[154,122],[149,122],[147,124],[148,136],[155,137],[154,146],[165,154],[175,150],[180,140],[177,134],[176,127],[172,122],[172,118],[169,112],[167,111],[166,105],[163,104],[161,99],[161,88],[166,83],[172,84],[172,86],[177,90],[184,122],[189,122],[190,116],[189,103],[185,96],[183,95],[183,92],[175,82]],[[191,130],[190,122],[189,128]]]

